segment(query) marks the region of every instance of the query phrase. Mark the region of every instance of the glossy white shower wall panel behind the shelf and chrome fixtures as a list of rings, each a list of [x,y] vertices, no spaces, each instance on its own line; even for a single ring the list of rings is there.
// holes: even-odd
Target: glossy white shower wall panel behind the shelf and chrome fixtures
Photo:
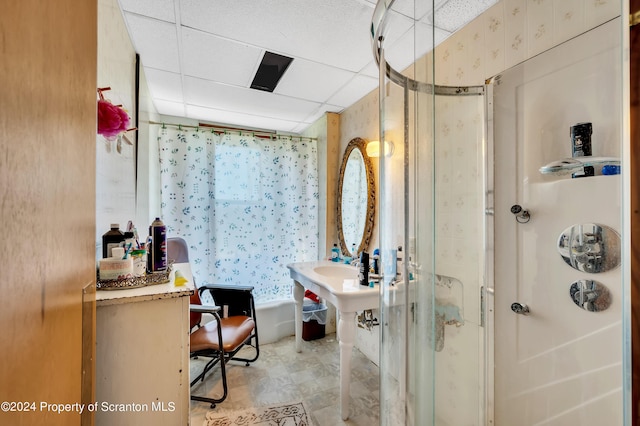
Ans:
[[[569,129],[593,125],[594,156],[620,158],[621,20],[505,71],[494,87],[496,424],[622,424],[622,271],[567,265],[560,234],[588,223],[622,234],[620,175],[572,179],[538,169],[571,157]],[[518,224],[513,204],[531,212]],[[620,250],[620,246],[611,250]],[[569,294],[580,279],[609,290],[589,312]],[[527,304],[528,316],[511,312]]]

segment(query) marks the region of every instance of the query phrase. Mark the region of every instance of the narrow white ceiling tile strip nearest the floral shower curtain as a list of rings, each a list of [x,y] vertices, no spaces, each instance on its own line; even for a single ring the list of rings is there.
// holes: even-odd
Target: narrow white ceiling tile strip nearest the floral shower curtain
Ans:
[[[297,121],[273,119],[260,115],[217,110],[195,105],[187,105],[187,117],[212,123],[233,124],[245,127],[247,127],[247,123],[251,123],[250,127],[254,129],[278,130],[282,132],[292,132],[298,125]]]

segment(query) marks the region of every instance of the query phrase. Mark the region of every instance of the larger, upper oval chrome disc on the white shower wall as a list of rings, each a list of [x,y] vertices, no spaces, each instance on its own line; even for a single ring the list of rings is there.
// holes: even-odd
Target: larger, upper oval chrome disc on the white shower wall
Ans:
[[[606,225],[582,223],[565,229],[558,252],[567,265],[582,272],[606,272],[620,265],[620,235]]]

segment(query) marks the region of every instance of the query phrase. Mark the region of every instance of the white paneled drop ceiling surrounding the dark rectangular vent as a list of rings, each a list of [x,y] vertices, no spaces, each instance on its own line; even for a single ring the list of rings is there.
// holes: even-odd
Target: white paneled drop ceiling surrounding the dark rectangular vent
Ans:
[[[378,85],[370,41],[374,0],[119,2],[163,115],[297,134]],[[388,62],[402,70],[414,50],[426,53],[414,45],[414,25],[438,44],[495,2],[436,0],[433,28],[430,7],[418,8],[414,20],[414,2],[396,1],[385,41]],[[250,88],[265,51],[293,58],[271,93]]]

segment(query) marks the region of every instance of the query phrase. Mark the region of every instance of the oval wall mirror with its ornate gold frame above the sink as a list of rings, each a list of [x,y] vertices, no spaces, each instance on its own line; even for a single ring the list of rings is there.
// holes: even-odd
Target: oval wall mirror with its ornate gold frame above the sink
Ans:
[[[375,215],[375,182],[366,141],[354,138],[347,145],[338,183],[338,237],[343,254],[355,256],[369,246]],[[356,246],[356,253],[351,247]]]

